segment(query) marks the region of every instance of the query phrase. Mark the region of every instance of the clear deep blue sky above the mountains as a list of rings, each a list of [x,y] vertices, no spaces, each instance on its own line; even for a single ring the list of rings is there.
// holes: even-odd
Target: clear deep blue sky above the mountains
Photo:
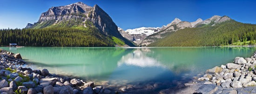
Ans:
[[[256,0],[0,0],[0,29],[24,28],[38,21],[52,6],[75,2],[99,5],[124,30],[161,27],[174,18],[182,21],[203,20],[213,15],[256,24]]]

